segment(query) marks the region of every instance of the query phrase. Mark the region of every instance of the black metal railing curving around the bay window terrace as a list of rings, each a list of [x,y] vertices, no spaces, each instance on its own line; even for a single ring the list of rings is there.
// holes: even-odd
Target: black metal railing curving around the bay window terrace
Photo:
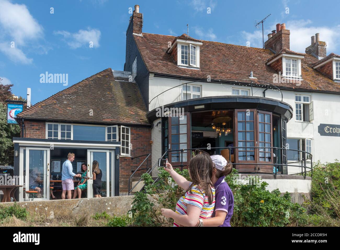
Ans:
[[[229,152],[231,152],[232,149],[240,149],[240,148],[242,148],[242,149],[252,148],[252,149],[254,149],[254,154],[255,153],[259,153],[259,152],[263,152],[263,153],[271,153],[271,155],[272,155],[272,153],[274,153],[275,154],[275,162],[273,161],[274,163],[264,163],[264,162],[260,162],[260,163],[259,162],[258,163],[256,163],[256,162],[255,163],[254,162],[252,162],[252,163],[233,163],[232,160],[231,160],[231,155],[232,154],[229,153],[229,159],[227,159],[227,160],[229,160],[229,162],[231,164],[233,164],[234,167],[237,166],[237,165],[256,165],[256,166],[258,166],[258,165],[268,165],[268,166],[273,166],[274,167],[275,171],[273,171],[274,172],[273,174],[275,174],[275,175],[278,172],[282,172],[284,166],[287,167],[287,173],[288,173],[288,167],[301,167],[301,172],[294,173],[294,174],[301,174],[301,175],[304,175],[305,177],[306,177],[306,173],[307,172],[312,172],[313,171],[312,154],[309,153],[309,152],[303,151],[303,150],[278,148],[278,147],[213,147],[213,148],[209,147],[209,150],[210,149],[220,149],[220,150],[221,149],[229,149]],[[185,166],[187,166],[187,165],[183,164],[183,154],[187,154],[188,151],[190,151],[190,154],[191,154],[191,151],[194,151],[194,150],[197,150],[197,149],[199,149],[199,150],[207,150],[207,148],[189,148],[189,149],[168,150],[160,158],[163,158],[169,152],[179,152],[181,154],[181,157],[180,157],[181,162],[179,162],[180,163],[179,165],[173,165],[172,167],[174,167],[174,168],[175,167],[181,167],[181,170],[183,170],[183,168]],[[255,149],[259,149],[259,151],[256,151]],[[260,151],[260,149],[263,149],[263,151]],[[270,149],[270,151],[266,151],[266,149]],[[294,162],[294,163],[301,162],[301,165],[292,165],[291,163],[283,163],[282,159],[281,159],[281,163],[278,163],[278,159],[279,159],[278,155],[282,155],[282,151],[297,151],[297,152],[301,153],[302,156],[303,156],[303,157],[301,157],[301,160]],[[249,151],[247,151],[247,152],[249,152]],[[308,159],[306,158],[306,154],[309,155]],[[273,157],[273,156],[271,156],[271,157]],[[254,155],[254,159],[255,159],[255,155]],[[274,158],[273,158],[273,160],[274,160]],[[310,160],[310,162],[308,162],[308,164],[310,164],[310,167],[307,166],[307,160],[308,161]],[[156,166],[158,166],[158,162],[151,169],[149,169],[147,171],[147,173],[151,173],[152,170]],[[307,169],[309,169],[309,170],[307,171]],[[279,170],[281,170],[281,171],[279,171]],[[258,172],[258,171],[254,171],[254,172]],[[263,173],[265,173],[265,172],[263,172]],[[266,173],[266,174],[270,174],[270,173]],[[291,175],[293,175],[293,174],[291,174]],[[312,176],[312,173],[311,173],[311,176]],[[152,184],[156,183],[158,181],[158,179],[159,178],[157,177],[157,179]],[[141,181],[141,179],[137,182],[137,184],[140,181]],[[129,189],[130,189],[130,179],[129,179]],[[130,195],[130,190],[129,190],[129,195]]]

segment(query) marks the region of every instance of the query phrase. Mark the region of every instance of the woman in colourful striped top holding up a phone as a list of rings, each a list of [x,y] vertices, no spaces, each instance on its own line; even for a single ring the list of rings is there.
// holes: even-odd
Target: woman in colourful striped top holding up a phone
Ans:
[[[215,188],[212,185],[213,163],[210,156],[200,152],[190,160],[188,171],[192,182],[176,173],[171,164],[167,163],[165,170],[174,181],[186,190],[176,204],[175,211],[161,209],[162,215],[173,218],[174,227],[194,227],[197,221],[211,217],[215,206]]]

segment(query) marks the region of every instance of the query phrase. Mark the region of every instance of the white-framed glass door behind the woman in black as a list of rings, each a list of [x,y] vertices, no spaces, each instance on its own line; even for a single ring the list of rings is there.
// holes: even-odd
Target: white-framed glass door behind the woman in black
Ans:
[[[112,159],[112,156],[111,156]],[[87,198],[100,195],[102,197],[110,196],[110,155],[109,150],[87,150],[87,176],[93,177],[93,163],[97,161],[99,164],[100,173],[96,174],[96,180],[88,180]],[[101,179],[101,181],[99,181]],[[94,185],[93,185],[94,184]]]

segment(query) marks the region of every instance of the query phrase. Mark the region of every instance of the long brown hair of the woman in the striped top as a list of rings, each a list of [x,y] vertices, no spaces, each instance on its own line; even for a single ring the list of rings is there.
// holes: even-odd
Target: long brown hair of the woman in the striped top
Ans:
[[[209,204],[211,205],[214,201],[214,194],[211,190],[213,186],[211,179],[214,163],[212,163],[209,154],[204,151],[196,150],[195,154],[196,155],[191,158],[188,167],[192,183],[186,191],[191,190],[192,186],[197,185],[198,188],[208,196]]]

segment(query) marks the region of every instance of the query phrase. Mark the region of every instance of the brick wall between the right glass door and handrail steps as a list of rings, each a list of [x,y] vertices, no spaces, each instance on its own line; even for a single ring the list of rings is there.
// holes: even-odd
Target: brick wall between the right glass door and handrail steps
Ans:
[[[151,153],[151,130],[150,128],[131,127],[131,157]],[[119,158],[119,193],[128,193],[128,181],[132,174],[131,170],[135,170],[146,156],[131,160],[131,157],[120,156]],[[152,155],[149,156],[149,167],[151,165]],[[146,167],[146,162],[141,168]],[[133,177],[139,177],[146,170],[138,171]],[[130,189],[132,182],[130,182]]]

